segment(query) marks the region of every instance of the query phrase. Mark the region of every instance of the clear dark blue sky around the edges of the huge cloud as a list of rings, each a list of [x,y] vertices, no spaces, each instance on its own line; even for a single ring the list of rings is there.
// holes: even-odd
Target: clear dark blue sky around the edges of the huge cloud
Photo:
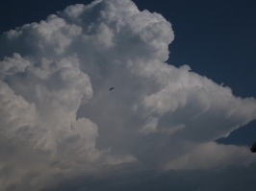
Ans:
[[[4,0],[1,34],[38,22],[68,5],[91,0]],[[241,0],[134,0],[140,10],[159,12],[173,27],[168,63],[188,64],[192,71],[232,88],[235,96],[256,97],[256,2]],[[256,122],[234,131],[225,144],[251,145]]]

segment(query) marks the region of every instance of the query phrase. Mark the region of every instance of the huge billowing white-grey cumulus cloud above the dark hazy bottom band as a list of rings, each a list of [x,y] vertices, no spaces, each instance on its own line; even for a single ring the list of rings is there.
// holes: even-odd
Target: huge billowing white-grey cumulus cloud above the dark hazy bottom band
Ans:
[[[0,190],[41,190],[127,165],[255,161],[245,147],[215,142],[256,118],[255,100],[167,64],[173,38],[161,14],[130,0],[69,6],[3,34]]]

